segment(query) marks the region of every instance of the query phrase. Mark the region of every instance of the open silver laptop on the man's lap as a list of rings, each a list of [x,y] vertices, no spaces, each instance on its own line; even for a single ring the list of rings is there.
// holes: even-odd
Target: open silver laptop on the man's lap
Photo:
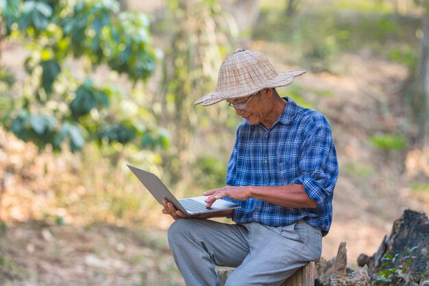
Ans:
[[[237,209],[241,207],[240,205],[221,199],[216,200],[211,207],[206,207],[207,203],[204,202],[204,200],[207,196],[177,199],[155,174],[130,165],[127,166],[140,182],[145,185],[152,196],[158,200],[158,203],[162,205],[162,200],[165,198],[172,203],[177,210],[182,211],[182,213],[185,213],[187,216],[195,216],[200,213],[212,213],[215,211],[226,211],[228,209]]]

